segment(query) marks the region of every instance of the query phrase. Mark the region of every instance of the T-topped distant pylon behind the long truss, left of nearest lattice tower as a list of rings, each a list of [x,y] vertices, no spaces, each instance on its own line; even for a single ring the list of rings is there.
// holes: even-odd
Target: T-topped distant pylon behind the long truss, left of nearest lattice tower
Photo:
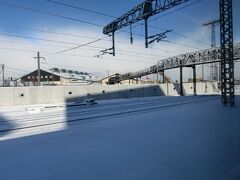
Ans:
[[[216,48],[216,26],[220,24],[219,19],[211,20],[207,23],[204,23],[203,26],[211,28],[211,47]],[[210,80],[218,79],[218,67],[217,64],[211,64],[210,66]]]

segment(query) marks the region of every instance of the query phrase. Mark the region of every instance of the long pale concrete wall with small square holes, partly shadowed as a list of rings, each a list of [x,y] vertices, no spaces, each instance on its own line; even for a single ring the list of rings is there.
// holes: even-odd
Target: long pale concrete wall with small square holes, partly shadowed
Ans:
[[[216,93],[211,83],[198,83],[197,92]],[[205,88],[207,87],[207,91]],[[192,83],[184,84],[185,94],[193,94]],[[91,85],[91,86],[43,86],[0,88],[0,106],[19,106],[64,103],[86,98],[122,99],[147,96],[178,96],[173,84],[160,85]]]

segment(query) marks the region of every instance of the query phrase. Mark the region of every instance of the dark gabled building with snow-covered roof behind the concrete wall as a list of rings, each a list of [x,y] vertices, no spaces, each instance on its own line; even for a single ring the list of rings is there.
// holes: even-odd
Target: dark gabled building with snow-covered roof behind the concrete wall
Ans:
[[[40,70],[41,85],[87,85],[98,83],[97,77],[90,73],[79,72],[67,69],[53,68],[50,70]],[[38,70],[18,78],[18,84],[23,86],[37,86]]]

